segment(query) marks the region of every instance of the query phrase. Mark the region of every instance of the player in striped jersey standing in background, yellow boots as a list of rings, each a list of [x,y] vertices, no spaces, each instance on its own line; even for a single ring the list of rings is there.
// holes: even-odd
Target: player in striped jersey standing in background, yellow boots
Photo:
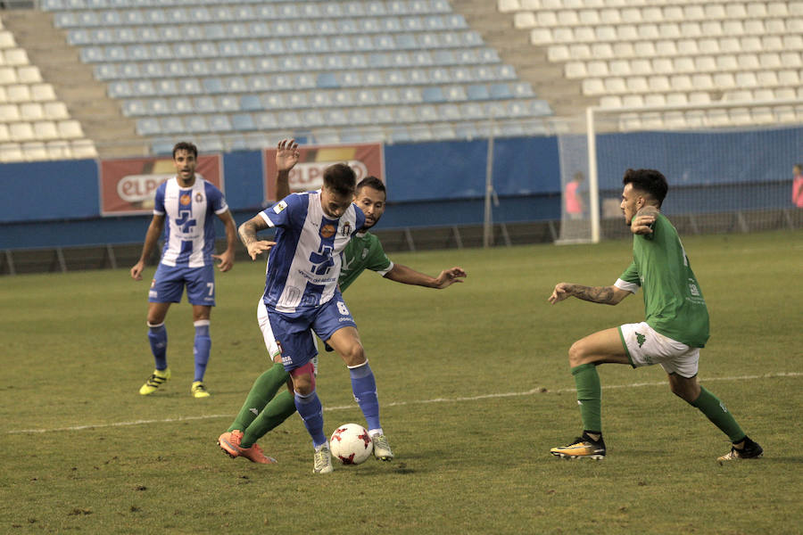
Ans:
[[[203,375],[211,350],[209,325],[211,308],[215,306],[214,260],[219,260],[221,272],[234,266],[236,227],[223,193],[195,175],[197,163],[198,149],[194,144],[181,142],[173,147],[176,177],[163,182],[156,189],[153,219],[145,234],[142,254],[131,268],[131,277],[141,281],[145,261],[150,258],[164,229],[161,262],[148,292],[148,341],[156,369],[139,389],[144,396],[153,394],[170,379],[164,318],[170,303],[181,300],[186,286],[186,299],[193,306],[195,325],[195,380],[190,393],[195,398],[209,397]],[[212,254],[215,248],[215,222],[212,215],[217,215],[226,226],[226,251],[219,255]]]

